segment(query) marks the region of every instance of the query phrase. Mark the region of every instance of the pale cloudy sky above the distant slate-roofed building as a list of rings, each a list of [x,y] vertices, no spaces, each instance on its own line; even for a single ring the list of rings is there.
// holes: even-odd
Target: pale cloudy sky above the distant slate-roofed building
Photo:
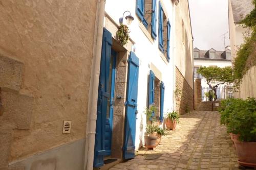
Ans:
[[[227,0],[188,0],[194,48],[224,51],[228,32]],[[228,33],[225,45],[229,45]]]

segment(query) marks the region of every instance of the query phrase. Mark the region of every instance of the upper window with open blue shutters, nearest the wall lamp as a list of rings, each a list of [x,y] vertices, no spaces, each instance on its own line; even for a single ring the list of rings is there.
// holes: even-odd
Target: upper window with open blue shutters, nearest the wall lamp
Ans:
[[[151,36],[154,39],[156,39],[157,37],[156,0],[137,0],[136,14],[142,21],[147,31],[151,32]]]

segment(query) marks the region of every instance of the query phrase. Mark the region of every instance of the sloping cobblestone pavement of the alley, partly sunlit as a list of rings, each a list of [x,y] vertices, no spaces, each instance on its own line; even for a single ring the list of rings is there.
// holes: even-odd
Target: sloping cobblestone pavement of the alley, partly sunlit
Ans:
[[[144,160],[146,154],[160,154]],[[117,169],[238,169],[237,154],[218,112],[194,111],[180,118],[175,131],[167,131],[155,151],[139,151]]]

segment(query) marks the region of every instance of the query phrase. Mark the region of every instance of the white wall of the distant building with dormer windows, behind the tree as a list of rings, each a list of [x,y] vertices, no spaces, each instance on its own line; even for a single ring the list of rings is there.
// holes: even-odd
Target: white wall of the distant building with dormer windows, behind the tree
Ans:
[[[194,67],[200,67],[200,66],[218,66],[218,67],[227,67],[231,66],[231,61],[212,61],[212,60],[194,60]],[[202,79],[202,87],[209,87],[209,85],[206,83],[205,79]],[[225,84],[220,85],[219,87],[225,86]]]

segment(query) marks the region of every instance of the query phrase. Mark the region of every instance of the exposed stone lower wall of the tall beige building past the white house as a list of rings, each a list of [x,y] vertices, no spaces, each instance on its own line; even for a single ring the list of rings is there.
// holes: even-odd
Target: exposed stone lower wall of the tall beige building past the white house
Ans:
[[[176,111],[180,114],[192,111],[193,89],[189,86],[179,69],[176,67]]]

